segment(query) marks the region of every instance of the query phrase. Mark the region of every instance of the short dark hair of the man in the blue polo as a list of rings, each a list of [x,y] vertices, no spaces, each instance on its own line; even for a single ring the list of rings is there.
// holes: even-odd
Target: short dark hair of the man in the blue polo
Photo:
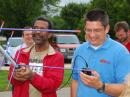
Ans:
[[[100,21],[102,25],[106,27],[109,24],[109,16],[104,10],[96,8],[86,14],[85,22],[86,21]]]

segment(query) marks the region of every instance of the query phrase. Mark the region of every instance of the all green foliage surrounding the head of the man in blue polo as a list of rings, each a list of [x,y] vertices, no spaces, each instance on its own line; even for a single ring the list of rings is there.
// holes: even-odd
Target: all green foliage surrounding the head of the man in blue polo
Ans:
[[[83,15],[93,8],[101,8],[108,12],[110,17],[110,36],[115,38],[113,28],[118,21],[127,21],[130,24],[130,0],[90,0],[88,4],[70,3],[61,10],[61,17],[66,29],[83,29]],[[83,30],[82,30],[83,32]],[[83,40],[84,33],[80,34]]]

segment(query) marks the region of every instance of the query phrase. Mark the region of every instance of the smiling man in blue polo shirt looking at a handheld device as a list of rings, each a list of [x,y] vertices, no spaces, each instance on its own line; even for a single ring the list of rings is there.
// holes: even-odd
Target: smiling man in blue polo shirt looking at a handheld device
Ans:
[[[124,89],[130,55],[122,44],[109,37],[109,28],[105,11],[93,9],[86,15],[87,42],[74,53],[71,97],[113,97]]]

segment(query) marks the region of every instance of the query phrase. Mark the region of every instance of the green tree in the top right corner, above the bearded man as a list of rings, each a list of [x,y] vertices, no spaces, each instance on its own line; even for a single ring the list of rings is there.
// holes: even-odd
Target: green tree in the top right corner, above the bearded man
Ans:
[[[115,38],[113,33],[114,24],[118,21],[127,21],[130,24],[130,1],[129,0],[92,0],[91,8],[102,8],[106,10],[110,17],[110,35]]]

